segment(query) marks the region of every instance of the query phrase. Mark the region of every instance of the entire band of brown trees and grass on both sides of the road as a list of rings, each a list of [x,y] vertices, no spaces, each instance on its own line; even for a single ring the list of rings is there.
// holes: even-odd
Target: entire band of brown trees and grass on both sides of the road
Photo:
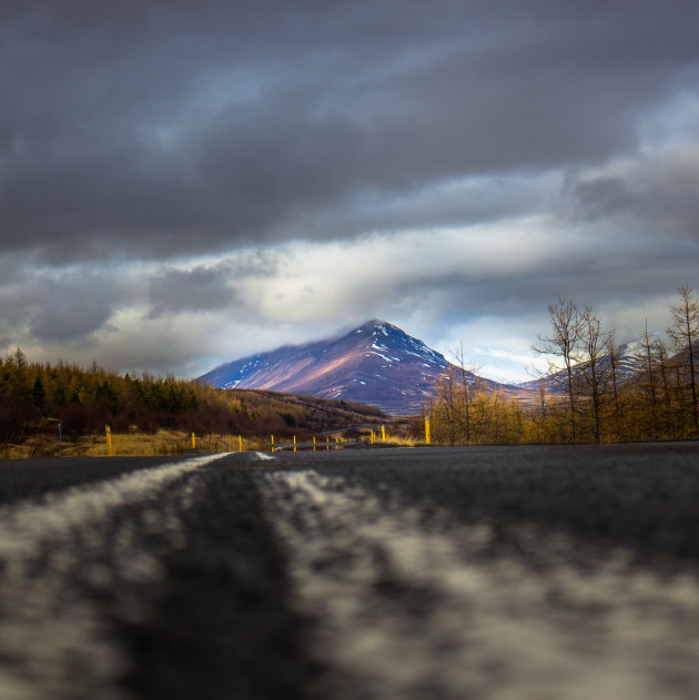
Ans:
[[[551,359],[535,392],[523,400],[479,384],[457,364],[436,387],[429,407],[435,444],[611,443],[699,437],[697,353],[699,298],[687,286],[670,307],[667,341],[647,327],[637,342],[636,372],[622,377],[612,331],[600,316],[559,297],[549,306],[551,332],[535,346]],[[422,418],[387,417],[377,408],[262,389],[214,389],[153,377],[120,376],[93,364],[29,363],[18,349],[0,359],[0,456],[105,454],[110,425],[119,454],[174,454],[191,449],[269,447],[344,430],[366,436],[386,424],[391,443],[424,439]],[[148,437],[150,436],[150,437]]]

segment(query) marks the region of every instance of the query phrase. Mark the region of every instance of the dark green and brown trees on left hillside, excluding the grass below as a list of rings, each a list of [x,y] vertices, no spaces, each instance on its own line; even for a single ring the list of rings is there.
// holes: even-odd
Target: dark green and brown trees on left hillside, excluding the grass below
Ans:
[[[156,377],[123,376],[93,363],[30,363],[17,349],[0,358],[0,442],[22,443],[39,433],[67,437],[113,430],[159,428],[197,434],[282,436],[296,416],[272,400],[245,400],[207,385]]]

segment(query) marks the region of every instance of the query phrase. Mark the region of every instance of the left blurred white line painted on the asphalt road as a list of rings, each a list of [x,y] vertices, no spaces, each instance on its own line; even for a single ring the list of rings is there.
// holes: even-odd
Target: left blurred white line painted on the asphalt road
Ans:
[[[122,700],[115,679],[128,661],[109,640],[87,591],[103,590],[116,600],[121,615],[135,619],[143,611],[129,590],[163,577],[160,562],[142,551],[139,537],[145,529],[146,535],[168,537],[173,547],[185,542],[180,541],[176,508],[146,508],[138,527],[132,518],[113,514],[225,456],[140,469],[50,495],[40,505],[0,508],[2,700]],[[185,488],[181,498],[186,504],[192,494]],[[109,564],[101,558],[105,550],[113,557]],[[75,587],[83,592],[75,596]],[[80,696],[74,694],[73,673],[81,677]]]

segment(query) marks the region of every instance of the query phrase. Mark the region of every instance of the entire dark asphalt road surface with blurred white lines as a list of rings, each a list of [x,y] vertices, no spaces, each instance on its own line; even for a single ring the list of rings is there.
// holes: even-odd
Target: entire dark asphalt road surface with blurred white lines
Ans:
[[[699,444],[0,463],[2,700],[671,700]]]

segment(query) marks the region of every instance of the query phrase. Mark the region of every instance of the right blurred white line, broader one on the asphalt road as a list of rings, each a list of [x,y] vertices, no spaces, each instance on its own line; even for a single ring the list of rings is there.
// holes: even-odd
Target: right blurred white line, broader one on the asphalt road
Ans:
[[[260,479],[294,605],[333,669],[318,697],[680,699],[699,681],[690,575],[637,571],[621,550],[581,571],[579,542],[523,526],[537,568],[493,556],[489,526],[443,514],[429,527],[341,477]],[[668,669],[682,682],[668,684]]]

